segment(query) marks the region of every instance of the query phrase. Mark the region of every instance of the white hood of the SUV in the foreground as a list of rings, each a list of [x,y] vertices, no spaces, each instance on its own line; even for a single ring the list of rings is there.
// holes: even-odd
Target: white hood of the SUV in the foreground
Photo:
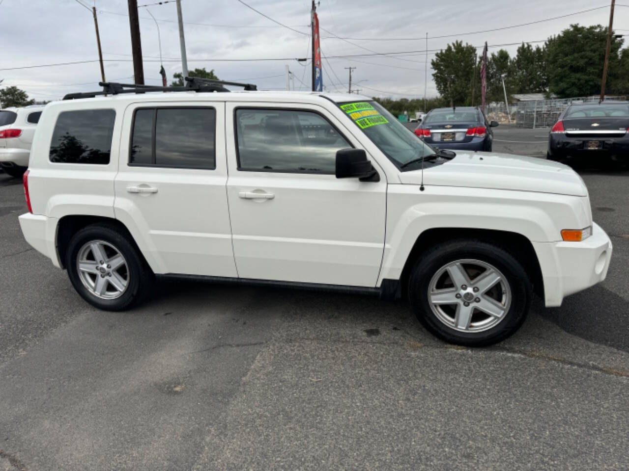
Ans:
[[[421,170],[402,172],[400,180],[419,185]],[[587,196],[583,180],[567,165],[493,152],[457,151],[457,156],[443,165],[425,168],[424,184]]]

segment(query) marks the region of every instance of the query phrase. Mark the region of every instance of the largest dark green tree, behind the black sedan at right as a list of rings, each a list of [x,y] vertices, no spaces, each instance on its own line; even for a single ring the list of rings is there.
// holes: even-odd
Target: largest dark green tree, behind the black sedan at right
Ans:
[[[570,28],[546,41],[548,91],[560,98],[598,95],[601,92],[607,29],[571,24]],[[620,75],[618,51],[623,41],[611,41],[608,83]]]

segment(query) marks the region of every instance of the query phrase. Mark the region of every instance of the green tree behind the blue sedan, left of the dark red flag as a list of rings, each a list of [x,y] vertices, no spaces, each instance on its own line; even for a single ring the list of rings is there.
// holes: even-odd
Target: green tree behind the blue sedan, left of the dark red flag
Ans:
[[[448,44],[430,61],[435,85],[450,106],[463,106],[471,101],[472,74],[476,70],[476,48],[461,41]]]

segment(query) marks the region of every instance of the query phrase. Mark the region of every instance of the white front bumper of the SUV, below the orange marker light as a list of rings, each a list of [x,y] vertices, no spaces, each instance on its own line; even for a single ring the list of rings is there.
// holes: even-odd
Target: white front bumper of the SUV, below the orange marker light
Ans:
[[[565,296],[600,283],[610,268],[610,237],[596,223],[585,241],[533,242],[533,248],[542,268],[547,307],[560,306]]]

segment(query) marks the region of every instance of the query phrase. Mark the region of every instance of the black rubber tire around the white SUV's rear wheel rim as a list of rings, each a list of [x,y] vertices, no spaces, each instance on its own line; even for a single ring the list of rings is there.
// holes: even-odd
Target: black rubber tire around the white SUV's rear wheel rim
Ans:
[[[79,277],[77,256],[81,247],[91,241],[107,242],[125,257],[128,286],[118,298],[102,299],[97,297],[84,286]],[[65,267],[74,289],[92,306],[106,311],[123,311],[140,303],[152,291],[155,275],[130,236],[113,225],[92,224],[84,227],[70,239],[65,253]]]

